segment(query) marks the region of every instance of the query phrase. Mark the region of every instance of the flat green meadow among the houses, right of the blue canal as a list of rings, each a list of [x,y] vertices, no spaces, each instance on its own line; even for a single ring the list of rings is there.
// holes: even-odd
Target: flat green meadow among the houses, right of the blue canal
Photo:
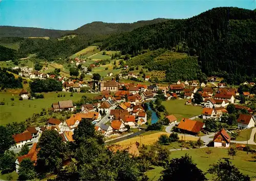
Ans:
[[[186,101],[187,100],[163,101],[162,105],[165,106],[169,115],[174,115],[178,121],[181,121],[182,118],[191,118],[201,114],[201,107],[185,105]]]

